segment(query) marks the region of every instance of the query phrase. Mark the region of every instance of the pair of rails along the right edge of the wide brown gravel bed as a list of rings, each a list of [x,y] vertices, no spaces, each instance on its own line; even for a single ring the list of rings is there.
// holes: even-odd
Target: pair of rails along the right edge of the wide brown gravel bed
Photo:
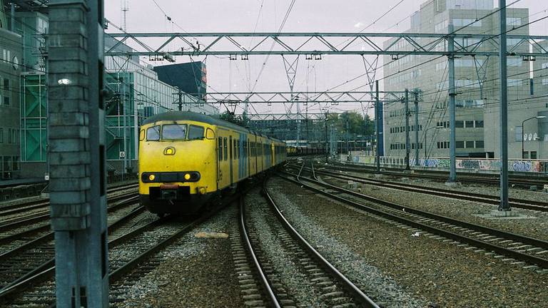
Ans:
[[[291,176],[295,176],[295,175],[291,175]],[[355,201],[352,201],[352,200],[348,200],[344,197],[340,197],[338,195],[333,195],[333,193],[328,193],[324,190],[321,190],[319,188],[315,188],[311,185],[308,185],[306,183],[303,183],[302,181],[298,181],[298,180],[293,180],[292,178],[287,178],[287,177],[284,177],[284,176],[280,176],[280,178],[283,178],[285,180],[288,180],[292,183],[295,183],[297,185],[300,185],[302,186],[303,188],[307,188],[308,190],[312,190],[314,191],[315,193],[319,193],[321,195],[325,195],[327,197],[330,197],[331,199],[333,200],[337,200],[339,202],[342,202],[346,205],[350,205],[352,207],[356,207],[357,209],[360,209],[360,210],[365,210],[367,212],[371,212],[372,214],[375,214],[375,215],[378,215],[378,216],[382,216],[382,217],[385,217],[389,220],[393,220],[393,221],[396,221],[396,222],[400,222],[404,225],[408,225],[410,227],[415,227],[417,229],[420,229],[420,230],[424,230],[426,232],[430,232],[432,234],[437,234],[437,235],[440,235],[442,237],[445,237],[447,239],[450,239],[450,240],[455,240],[455,241],[458,241],[458,242],[465,242],[467,243],[468,245],[472,245],[472,246],[475,246],[475,247],[482,247],[484,248],[485,250],[489,250],[489,251],[493,251],[493,252],[497,252],[501,255],[507,255],[509,257],[512,257],[516,260],[522,260],[522,261],[525,261],[529,264],[533,264],[533,265],[537,265],[539,267],[543,267],[543,268],[548,268],[548,260],[546,259],[542,259],[540,257],[535,257],[533,255],[527,255],[527,254],[524,254],[522,252],[517,252],[515,250],[509,250],[507,248],[504,248],[504,247],[500,247],[498,245],[494,245],[494,244],[491,244],[489,242],[484,242],[484,241],[481,241],[481,240],[475,240],[471,237],[466,237],[465,235],[460,235],[460,234],[457,234],[457,233],[454,233],[454,232],[450,232],[450,231],[447,231],[447,230],[442,230],[440,228],[437,228],[437,227],[432,227],[430,225],[425,225],[421,222],[416,222],[414,220],[410,220],[410,219],[407,219],[407,218],[404,218],[404,217],[400,217],[400,216],[397,216],[397,215],[394,215],[394,214],[391,214],[389,212],[385,212],[383,210],[378,210],[378,209],[375,209],[373,207],[369,207],[367,205],[362,205],[358,202],[355,202]],[[324,183],[320,183],[316,180],[312,180],[312,179],[306,179],[306,181],[310,182],[310,183],[314,183],[315,185],[320,185],[320,186],[323,186],[323,187],[326,187],[326,188],[330,188],[330,185],[329,184],[324,184]],[[344,190],[344,189],[342,189]],[[353,192],[352,192],[353,193]],[[349,194],[350,194],[350,191],[349,191]],[[375,198],[371,198],[370,200],[375,200]],[[385,205],[385,203],[390,203],[390,202],[386,202],[386,201],[382,201],[382,200],[379,200],[380,201],[380,204],[382,205]],[[370,202],[375,202],[375,201],[370,201]],[[392,203],[392,205],[394,205]],[[385,205],[387,206],[387,205]],[[404,210],[407,212],[408,210],[411,211],[412,209],[409,208],[409,207],[405,207],[405,206],[402,206],[402,205],[396,205],[397,208],[399,208],[400,210]],[[420,215],[420,214],[416,214],[416,215]],[[434,215],[434,214],[431,214],[430,215]],[[435,218],[437,217],[437,218]],[[435,215],[435,216],[432,216],[432,219],[438,219],[440,218],[439,215]],[[455,221],[457,223],[461,223],[457,220],[452,220],[452,218],[449,218],[449,217],[444,217],[444,218],[440,218],[440,219],[447,219],[447,221]],[[449,223],[449,222],[448,222]],[[489,230],[489,228],[487,227],[483,227],[483,226],[479,226],[479,225],[473,225],[473,224],[470,224],[468,222],[462,222],[463,223],[463,226],[464,225],[467,225],[467,226],[470,226],[470,227],[474,227],[474,228],[477,228],[477,230],[486,230],[486,233],[487,233],[487,230]],[[508,237],[515,237],[515,238],[522,238],[524,239],[525,237],[522,237],[521,235],[513,235],[513,234],[510,234],[510,233],[507,233],[507,232],[504,232],[504,231],[501,231],[501,230],[494,230],[492,229],[492,231],[498,235],[505,235],[505,236],[508,236]],[[495,235],[496,236],[496,235]],[[544,241],[541,241],[541,240],[537,240],[537,239],[532,239],[532,238],[529,238],[529,241],[531,242],[537,242],[539,241],[539,243],[542,243],[542,245],[546,245],[546,242]]]

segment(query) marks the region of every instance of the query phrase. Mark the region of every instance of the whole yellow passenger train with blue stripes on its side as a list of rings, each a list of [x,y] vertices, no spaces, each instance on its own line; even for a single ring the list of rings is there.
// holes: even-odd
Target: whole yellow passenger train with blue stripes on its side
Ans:
[[[220,193],[286,160],[285,143],[200,113],[171,111],[139,132],[141,204],[158,215],[197,212]]]

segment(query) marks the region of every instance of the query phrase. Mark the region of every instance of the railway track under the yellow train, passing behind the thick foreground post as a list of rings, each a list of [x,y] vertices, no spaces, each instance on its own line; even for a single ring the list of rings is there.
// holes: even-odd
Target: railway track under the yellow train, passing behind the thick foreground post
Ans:
[[[234,195],[227,198],[216,210],[200,217],[191,217],[188,221],[178,222],[177,217],[166,216],[133,229],[128,227],[127,221],[121,223],[116,230],[111,226],[108,235],[111,304],[123,299],[129,285],[161,262],[158,252],[173,245],[238,197],[239,195]],[[52,278],[55,266],[47,267],[44,263],[42,267],[41,271],[35,268],[36,274],[29,274],[28,277],[0,289],[0,304],[9,304],[10,307],[54,307],[55,286]]]

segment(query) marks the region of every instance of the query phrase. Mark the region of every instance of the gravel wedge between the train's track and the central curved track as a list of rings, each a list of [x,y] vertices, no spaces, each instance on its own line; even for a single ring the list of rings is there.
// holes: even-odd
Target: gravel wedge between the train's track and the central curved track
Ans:
[[[231,206],[161,252],[163,260],[116,294],[123,302],[111,307],[243,307],[226,237],[196,237],[199,232],[224,233],[235,221]]]

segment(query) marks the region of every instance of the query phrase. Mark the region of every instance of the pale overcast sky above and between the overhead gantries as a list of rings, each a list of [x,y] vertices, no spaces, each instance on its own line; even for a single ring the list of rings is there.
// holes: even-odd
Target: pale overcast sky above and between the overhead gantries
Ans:
[[[124,0],[122,0],[124,1]],[[430,1],[430,0],[429,0]],[[153,0],[128,0],[128,32],[276,32],[291,0],[156,0],[175,22],[154,4]],[[296,0],[283,31],[301,32],[357,32],[385,14],[400,0]],[[410,27],[408,16],[420,8],[425,0],[404,0],[390,14],[370,26],[366,32],[401,32]],[[512,0],[507,0],[508,4]],[[494,1],[497,6],[498,1]],[[121,1],[108,0],[106,18],[121,26]],[[262,9],[260,9],[263,4]],[[531,20],[547,16],[548,1],[521,0],[512,7],[528,8]],[[260,16],[259,16],[260,12]],[[401,22],[400,22],[401,21]],[[548,21],[531,27],[531,34],[548,34]],[[202,60],[195,58],[194,60]],[[177,58],[188,62],[190,58]],[[208,57],[208,91],[288,91],[288,81],[280,56],[271,56],[255,85],[265,56],[250,57],[249,61],[229,61]],[[153,63],[156,64],[156,63]],[[166,63],[161,63],[166,64]],[[295,81],[296,91],[325,91],[365,72],[360,56],[329,56],[322,61],[300,61]],[[382,72],[379,72],[382,76]],[[347,83],[339,91],[346,91],[367,83],[362,78]],[[333,111],[341,106],[333,107]],[[347,106],[344,109],[360,109]],[[281,106],[261,106],[260,112],[278,112]],[[241,110],[237,110],[237,112]]]

